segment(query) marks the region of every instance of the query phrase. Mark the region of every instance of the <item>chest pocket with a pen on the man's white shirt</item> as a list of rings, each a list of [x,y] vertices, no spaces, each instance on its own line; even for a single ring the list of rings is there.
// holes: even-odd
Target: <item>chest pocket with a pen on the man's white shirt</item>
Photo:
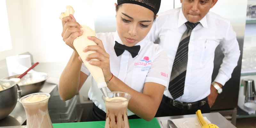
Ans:
[[[208,65],[213,64],[215,49],[219,45],[219,42],[211,39],[204,39],[202,43],[202,53],[200,58],[200,67],[205,68]]]

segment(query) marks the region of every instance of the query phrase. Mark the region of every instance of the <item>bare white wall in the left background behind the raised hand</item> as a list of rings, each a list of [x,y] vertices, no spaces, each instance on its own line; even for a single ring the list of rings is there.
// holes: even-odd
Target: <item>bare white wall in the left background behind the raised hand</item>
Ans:
[[[72,50],[61,37],[60,13],[66,5],[75,10],[75,18],[94,28],[92,0],[6,0],[12,50],[1,52],[7,56],[30,52],[34,62],[65,62]]]

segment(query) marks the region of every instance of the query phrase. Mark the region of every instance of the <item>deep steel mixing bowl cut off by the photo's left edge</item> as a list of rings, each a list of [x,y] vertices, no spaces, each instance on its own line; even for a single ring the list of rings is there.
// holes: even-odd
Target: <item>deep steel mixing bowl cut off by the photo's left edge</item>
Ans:
[[[11,80],[0,80],[0,86],[4,90],[0,91],[0,120],[8,116],[15,108],[20,99],[20,88],[16,82]],[[17,97],[19,94],[19,98]]]

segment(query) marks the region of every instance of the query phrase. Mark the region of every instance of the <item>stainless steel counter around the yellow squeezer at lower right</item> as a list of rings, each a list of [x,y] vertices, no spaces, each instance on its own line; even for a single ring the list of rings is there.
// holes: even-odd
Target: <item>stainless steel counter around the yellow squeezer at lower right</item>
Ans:
[[[233,124],[231,124],[224,116],[220,113],[205,113],[202,114],[205,116],[212,124],[216,124],[220,128],[236,128]],[[168,119],[179,119],[179,118],[188,118],[188,117],[196,117],[196,114],[193,115],[183,115],[183,116],[166,116],[166,117],[156,117],[161,128],[164,128],[161,120]]]

